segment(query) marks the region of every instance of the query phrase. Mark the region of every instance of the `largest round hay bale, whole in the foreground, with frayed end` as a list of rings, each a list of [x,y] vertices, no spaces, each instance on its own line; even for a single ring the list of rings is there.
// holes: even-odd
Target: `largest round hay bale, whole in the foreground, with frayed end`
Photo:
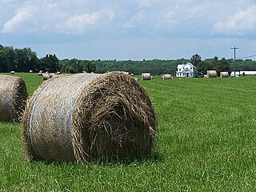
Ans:
[[[149,155],[156,135],[149,96],[119,72],[44,82],[28,102],[23,122],[28,156],[54,162]]]

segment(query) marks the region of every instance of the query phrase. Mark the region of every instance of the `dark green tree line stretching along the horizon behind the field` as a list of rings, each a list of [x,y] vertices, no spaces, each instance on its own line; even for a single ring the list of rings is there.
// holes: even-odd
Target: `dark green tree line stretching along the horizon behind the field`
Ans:
[[[232,70],[256,70],[256,61],[252,59],[226,59],[218,57],[206,58],[202,60],[199,54],[194,54],[191,58],[181,58],[176,60],[142,60],[142,61],[117,61],[117,60],[79,60],[62,59],[59,60],[55,54],[46,54],[43,58],[38,58],[37,54],[30,48],[15,49],[12,46],[0,45],[0,72],[29,72],[39,70],[62,73],[105,73],[110,70],[128,71],[133,74],[149,72],[151,74],[175,74],[177,65],[191,62],[197,67],[198,77],[206,74],[206,70],[221,71]]]

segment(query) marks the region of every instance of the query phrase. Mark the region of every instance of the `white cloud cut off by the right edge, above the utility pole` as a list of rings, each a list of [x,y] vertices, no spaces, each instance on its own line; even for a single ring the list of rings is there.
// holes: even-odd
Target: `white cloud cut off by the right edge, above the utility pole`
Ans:
[[[232,15],[226,22],[216,22],[213,33],[243,35],[256,31],[256,5]]]

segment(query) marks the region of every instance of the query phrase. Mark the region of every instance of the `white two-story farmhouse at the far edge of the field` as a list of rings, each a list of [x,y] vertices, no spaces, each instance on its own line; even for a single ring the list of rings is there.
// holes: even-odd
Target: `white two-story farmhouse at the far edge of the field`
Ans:
[[[177,66],[176,77],[178,78],[194,78],[195,74],[196,67],[190,62]]]

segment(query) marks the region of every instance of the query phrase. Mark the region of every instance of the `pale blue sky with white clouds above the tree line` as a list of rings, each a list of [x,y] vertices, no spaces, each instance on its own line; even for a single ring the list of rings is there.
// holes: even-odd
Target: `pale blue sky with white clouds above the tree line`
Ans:
[[[0,0],[0,44],[39,58],[256,54],[256,0]],[[252,57],[256,60],[256,57]]]

